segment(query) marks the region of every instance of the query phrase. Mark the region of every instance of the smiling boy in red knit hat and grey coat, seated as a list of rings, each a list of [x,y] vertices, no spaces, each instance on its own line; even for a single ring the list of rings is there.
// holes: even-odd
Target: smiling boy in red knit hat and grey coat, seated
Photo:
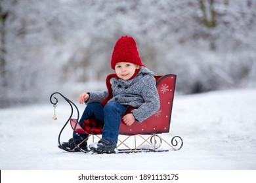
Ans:
[[[141,123],[160,108],[154,73],[142,64],[133,37],[125,36],[117,40],[110,65],[116,74],[106,78],[108,91],[83,93],[79,97],[80,104],[87,104],[79,124],[83,127],[83,121],[89,118],[96,118],[104,124],[102,139],[89,145],[91,151],[98,154],[117,153],[121,120],[127,125],[135,121]],[[127,107],[135,109],[125,114]],[[74,140],[79,144],[88,136],[75,133]],[[62,146],[69,149],[75,147],[73,139],[63,142]],[[87,142],[79,147],[87,149]]]

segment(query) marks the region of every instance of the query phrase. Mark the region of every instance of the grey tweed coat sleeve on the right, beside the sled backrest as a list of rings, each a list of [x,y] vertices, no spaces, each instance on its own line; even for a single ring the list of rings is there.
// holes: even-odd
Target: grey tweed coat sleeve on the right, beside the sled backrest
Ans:
[[[150,78],[144,85],[142,89],[142,97],[144,103],[139,108],[131,111],[139,123],[152,116],[152,114],[156,113],[160,108],[160,99],[154,77]]]

